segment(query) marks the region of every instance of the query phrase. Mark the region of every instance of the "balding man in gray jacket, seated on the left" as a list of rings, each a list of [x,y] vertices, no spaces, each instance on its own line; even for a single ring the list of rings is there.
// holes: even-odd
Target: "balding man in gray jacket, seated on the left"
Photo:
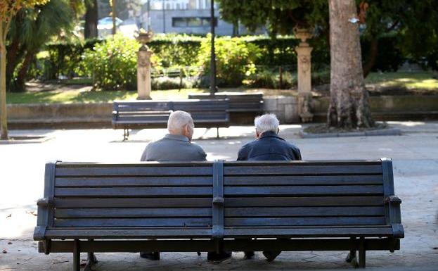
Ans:
[[[205,161],[205,151],[191,143],[195,125],[191,115],[184,111],[174,111],[167,120],[166,134],[162,139],[146,146],[142,161]],[[141,252],[141,258],[160,260],[159,252]]]

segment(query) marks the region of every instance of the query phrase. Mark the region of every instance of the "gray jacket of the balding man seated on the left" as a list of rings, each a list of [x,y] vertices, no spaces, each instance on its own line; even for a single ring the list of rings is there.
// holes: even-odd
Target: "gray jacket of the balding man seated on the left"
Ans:
[[[162,139],[146,146],[141,156],[142,161],[205,161],[205,151],[188,141],[187,137],[166,134]]]

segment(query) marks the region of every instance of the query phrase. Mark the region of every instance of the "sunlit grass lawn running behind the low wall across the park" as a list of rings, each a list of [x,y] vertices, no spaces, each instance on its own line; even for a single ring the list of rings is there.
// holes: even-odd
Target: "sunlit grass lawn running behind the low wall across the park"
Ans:
[[[436,76],[436,75],[435,75]],[[69,82],[71,83],[71,82]],[[432,73],[371,73],[366,77],[366,84],[373,84],[378,89],[393,89],[393,94],[402,92],[401,89],[416,89],[412,94],[438,94],[438,79]],[[68,84],[66,84],[68,85]],[[208,89],[171,89],[153,90],[152,99],[187,99],[188,94],[208,92]],[[292,89],[247,89],[221,88],[220,92],[262,92],[264,96],[291,96],[297,91]],[[379,92],[378,90],[375,91]],[[86,88],[75,89],[74,87],[63,90],[47,90],[24,93],[8,93],[8,103],[105,103],[114,100],[135,100],[135,91],[90,91]]]

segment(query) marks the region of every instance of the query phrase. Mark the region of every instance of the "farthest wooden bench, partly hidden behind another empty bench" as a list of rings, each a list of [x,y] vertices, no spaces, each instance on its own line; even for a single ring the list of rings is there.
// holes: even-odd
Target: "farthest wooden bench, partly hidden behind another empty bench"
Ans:
[[[189,94],[188,99],[229,99],[230,113],[262,113],[263,94]]]

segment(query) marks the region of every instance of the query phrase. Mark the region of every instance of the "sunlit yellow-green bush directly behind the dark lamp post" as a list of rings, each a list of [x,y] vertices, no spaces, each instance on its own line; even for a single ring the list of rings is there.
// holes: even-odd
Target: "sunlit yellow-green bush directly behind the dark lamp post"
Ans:
[[[223,37],[215,41],[217,85],[236,87],[245,77],[255,73],[255,61],[262,51],[255,44],[239,38]],[[210,76],[210,35],[201,44],[198,65],[202,66],[203,75]]]

